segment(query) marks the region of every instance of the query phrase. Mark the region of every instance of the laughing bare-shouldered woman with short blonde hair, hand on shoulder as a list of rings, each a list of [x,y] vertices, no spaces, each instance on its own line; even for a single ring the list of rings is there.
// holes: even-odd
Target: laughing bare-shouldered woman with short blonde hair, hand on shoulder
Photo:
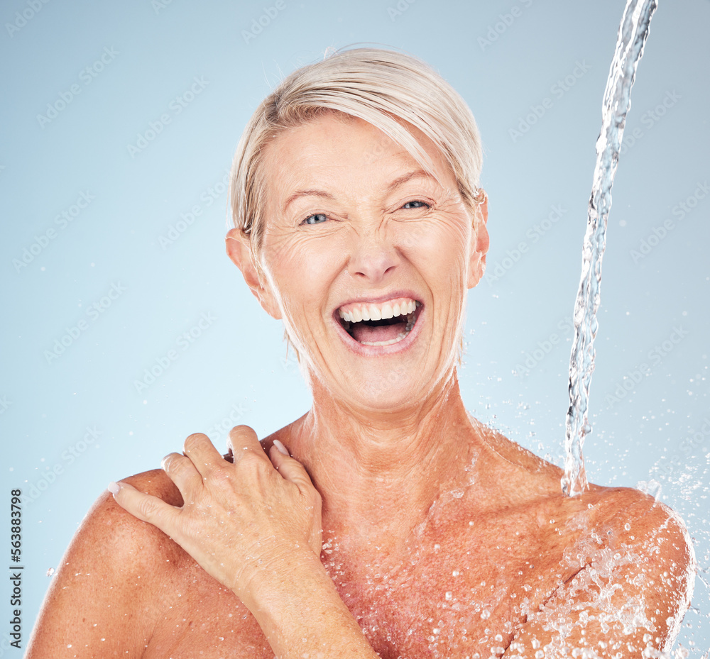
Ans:
[[[590,657],[670,649],[694,559],[633,489],[560,470],[464,409],[457,353],[484,273],[464,101],[396,52],[339,52],[254,113],[227,253],[282,319],[313,394],[229,460],[200,433],[111,484],[28,656]],[[51,651],[50,651],[51,650]]]

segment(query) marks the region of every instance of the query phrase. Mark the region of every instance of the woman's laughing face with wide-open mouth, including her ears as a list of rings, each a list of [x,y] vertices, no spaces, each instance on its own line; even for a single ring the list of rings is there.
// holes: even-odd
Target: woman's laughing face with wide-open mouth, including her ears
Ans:
[[[227,240],[264,309],[283,319],[314,394],[360,409],[420,405],[451,377],[466,289],[488,248],[485,204],[472,214],[435,145],[410,130],[436,177],[341,113],[278,135],[263,165],[265,281],[239,232]]]

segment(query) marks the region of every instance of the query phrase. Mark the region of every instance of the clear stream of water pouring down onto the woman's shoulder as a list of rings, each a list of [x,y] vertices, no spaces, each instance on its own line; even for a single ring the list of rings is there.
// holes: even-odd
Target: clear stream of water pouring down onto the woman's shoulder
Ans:
[[[606,247],[606,222],[611,208],[611,185],[618,165],[626,113],[631,104],[631,87],[643,55],[651,16],[657,0],[628,0],[621,17],[616,51],[611,61],[601,108],[601,133],[596,140],[594,183],[589,198],[581,280],[574,303],[574,343],[569,360],[569,409],[564,439],[562,492],[569,497],[587,488],[582,446],[591,432],[588,420],[589,384],[594,372],[594,337],[599,327],[601,259]]]

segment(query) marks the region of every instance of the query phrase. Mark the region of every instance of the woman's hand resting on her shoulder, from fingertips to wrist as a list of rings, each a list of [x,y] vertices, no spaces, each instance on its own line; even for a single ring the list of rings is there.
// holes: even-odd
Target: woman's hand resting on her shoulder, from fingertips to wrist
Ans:
[[[182,494],[182,508],[111,484],[126,511],[160,528],[251,609],[259,589],[288,578],[300,557],[321,551],[321,499],[304,467],[275,442],[267,456],[249,426],[229,433],[234,463],[207,436],[185,440],[163,469]]]

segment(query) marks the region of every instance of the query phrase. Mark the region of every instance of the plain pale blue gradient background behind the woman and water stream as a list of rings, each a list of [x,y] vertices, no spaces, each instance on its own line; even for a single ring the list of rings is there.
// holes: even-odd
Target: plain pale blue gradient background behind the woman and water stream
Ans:
[[[286,357],[280,323],[224,255],[226,194],[219,191],[258,102],[282,74],[320,59],[329,46],[373,42],[412,52],[473,109],[484,140],[491,251],[489,274],[469,295],[461,388],[482,421],[561,464],[572,333],[559,324],[572,313],[579,282],[601,98],[623,1],[400,0],[397,9],[395,1],[283,0],[283,10],[247,43],[244,31],[274,5],[53,0],[12,35],[6,24],[28,4],[0,8],[0,473],[7,497],[12,487],[39,494],[23,511],[25,642],[50,583],[45,573],[58,566],[110,480],[158,467],[192,432],[209,431],[222,447],[236,422],[263,436],[307,410],[310,397]],[[520,16],[498,24],[495,41],[481,42],[514,6]],[[710,435],[686,449],[682,443],[710,419],[710,199],[643,259],[635,262],[630,250],[710,179],[709,26],[707,0],[662,0],[652,21],[626,130],[627,138],[635,129],[642,136],[622,155],[613,188],[594,432],[585,446],[594,482],[662,484],[661,498],[682,514],[703,569],[710,562]],[[104,48],[118,54],[84,84],[80,72]],[[588,70],[553,95],[578,61]],[[171,101],[195,77],[207,86],[175,113]],[[38,114],[72,84],[80,94],[40,126]],[[648,112],[668,94],[675,100],[654,121]],[[513,138],[510,129],[545,97],[552,107]],[[128,145],[163,113],[170,124],[132,156]],[[95,199],[60,229],[55,216],[82,191]],[[201,215],[161,245],[196,204]],[[562,206],[562,218],[533,241],[535,225],[554,206]],[[57,236],[18,272],[13,260],[50,227]],[[515,264],[506,261],[521,242],[528,251]],[[494,280],[496,265],[505,272]],[[118,283],[125,292],[92,321],[87,310]],[[178,337],[191,328],[196,334],[202,314],[215,320],[182,350]],[[87,330],[48,363],[45,350],[80,319]],[[652,365],[648,353],[674,328],[687,336]],[[545,352],[538,342],[546,346],[553,334],[559,342]],[[178,360],[137,392],[134,382],[168,350]],[[518,365],[528,355],[536,363],[525,375]],[[650,375],[627,380],[630,392],[613,401],[641,362],[652,365]],[[97,435],[90,443],[87,426]],[[664,465],[671,466],[662,472]],[[48,470],[61,473],[50,482]],[[0,539],[9,544],[9,530]],[[2,602],[9,614],[5,594]],[[699,658],[710,636],[701,580],[693,605],[680,641]],[[4,633],[3,624],[0,654]]]

